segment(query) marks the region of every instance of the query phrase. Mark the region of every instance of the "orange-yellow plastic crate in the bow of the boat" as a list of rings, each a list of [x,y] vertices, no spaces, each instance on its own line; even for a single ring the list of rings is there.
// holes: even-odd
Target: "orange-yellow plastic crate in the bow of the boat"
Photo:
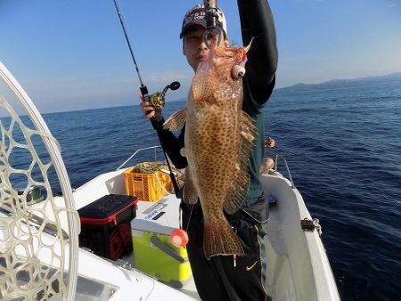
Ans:
[[[154,171],[151,173],[137,172],[142,170],[143,166],[151,167]],[[157,167],[158,163],[142,163],[127,169],[123,175],[126,183],[127,195],[135,196],[137,199],[157,201],[171,191],[172,183],[168,172],[160,171],[163,169]],[[163,169],[164,170],[164,169]]]

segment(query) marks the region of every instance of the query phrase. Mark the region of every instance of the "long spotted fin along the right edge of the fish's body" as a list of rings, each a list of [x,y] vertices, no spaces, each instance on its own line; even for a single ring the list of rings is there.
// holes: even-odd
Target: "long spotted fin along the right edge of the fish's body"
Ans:
[[[242,111],[241,112],[241,142],[240,142],[240,158],[239,165],[235,167],[233,175],[233,190],[227,196],[224,207],[225,212],[233,215],[242,205],[245,199],[248,187],[250,186],[250,173],[248,172],[248,161],[250,152],[255,147],[254,141],[258,135],[257,128],[253,119]]]

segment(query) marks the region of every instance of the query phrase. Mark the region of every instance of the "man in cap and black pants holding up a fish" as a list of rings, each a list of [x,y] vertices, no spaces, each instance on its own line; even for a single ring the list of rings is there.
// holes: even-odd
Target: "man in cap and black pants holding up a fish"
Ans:
[[[258,138],[250,155],[248,170],[250,187],[241,209],[227,220],[241,240],[245,256],[204,256],[203,218],[201,206],[188,206],[183,203],[183,226],[189,235],[187,245],[193,278],[202,300],[266,300],[266,250],[263,242],[265,232],[262,223],[266,222],[266,202],[262,184],[259,180],[259,167],[264,157],[264,108],[273,92],[277,68],[277,47],[275,43],[274,20],[266,0],[238,0],[243,45],[249,45],[246,75],[243,77],[243,105],[255,120]],[[218,10],[217,26],[225,38],[221,45],[228,45],[224,13]],[[180,38],[183,38],[183,53],[189,65],[196,71],[200,61],[209,52],[203,34],[206,30],[206,14],[203,5],[198,4],[184,15]],[[178,137],[162,125],[164,118],[160,110],[155,110],[150,102],[143,102],[143,115],[151,119],[157,130],[160,143],[168,157],[177,168],[187,166],[184,157],[184,129]]]

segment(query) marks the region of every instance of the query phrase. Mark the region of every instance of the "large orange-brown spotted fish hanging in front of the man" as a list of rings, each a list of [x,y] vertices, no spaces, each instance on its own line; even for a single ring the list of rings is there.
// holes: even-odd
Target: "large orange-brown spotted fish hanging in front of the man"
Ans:
[[[248,159],[256,136],[252,118],[242,108],[242,77],[246,48],[216,46],[201,61],[192,79],[186,109],[177,111],[164,127],[185,125],[184,202],[198,197],[204,216],[203,249],[217,255],[243,256],[244,251],[224,211],[233,215],[248,191]],[[224,209],[224,211],[223,211]]]

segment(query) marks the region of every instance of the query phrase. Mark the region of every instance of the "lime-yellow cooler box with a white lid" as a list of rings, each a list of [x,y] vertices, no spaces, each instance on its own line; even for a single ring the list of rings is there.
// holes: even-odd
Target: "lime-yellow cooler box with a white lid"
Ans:
[[[135,268],[174,288],[192,279],[186,248],[170,242],[171,232],[179,226],[179,204],[174,195],[154,203],[138,201],[131,221]]]

